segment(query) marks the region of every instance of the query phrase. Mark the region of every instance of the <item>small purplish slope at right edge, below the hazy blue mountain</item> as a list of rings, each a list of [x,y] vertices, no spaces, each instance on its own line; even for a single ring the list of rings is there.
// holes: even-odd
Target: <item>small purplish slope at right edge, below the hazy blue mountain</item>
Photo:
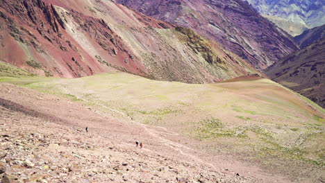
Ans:
[[[315,27],[305,30],[301,35],[294,37],[294,41],[301,47],[306,47],[313,44],[317,40],[321,40],[325,36],[325,24],[323,26]]]

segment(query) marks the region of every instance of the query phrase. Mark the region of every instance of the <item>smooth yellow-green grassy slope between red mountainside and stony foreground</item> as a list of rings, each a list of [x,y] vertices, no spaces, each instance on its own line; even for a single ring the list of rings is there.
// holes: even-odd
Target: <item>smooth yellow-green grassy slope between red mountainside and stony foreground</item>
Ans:
[[[276,171],[290,166],[295,173],[308,166],[316,167],[308,171],[317,173],[324,167],[324,109],[271,80],[191,85],[103,73],[76,79],[7,77],[0,81],[163,126],[197,139],[196,146],[210,153],[239,155]]]

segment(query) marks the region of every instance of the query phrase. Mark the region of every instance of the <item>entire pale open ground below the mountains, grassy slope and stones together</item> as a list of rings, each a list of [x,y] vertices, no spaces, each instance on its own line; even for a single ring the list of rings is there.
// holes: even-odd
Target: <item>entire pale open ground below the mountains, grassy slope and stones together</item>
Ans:
[[[220,113],[224,103],[219,103],[222,107],[212,110],[216,113],[214,116],[206,114],[211,110],[210,105],[216,106],[206,103],[204,97],[210,96],[206,91],[222,89],[227,93],[212,93],[226,96],[234,92],[233,87],[243,87],[241,82],[187,85],[151,81],[125,73],[90,79],[92,83],[87,83],[88,78],[2,78],[1,81],[24,86],[0,83],[0,170],[6,168],[5,179],[17,179],[17,182],[324,181],[324,121],[313,119],[324,113],[313,104],[307,105],[309,108],[281,105],[281,110],[289,109],[296,114],[301,119],[299,123],[293,123],[297,119],[290,116],[285,124],[273,121],[256,127],[258,121],[263,120],[260,119],[264,116],[263,110],[253,112],[251,108],[256,106],[249,105],[248,109],[242,109],[242,101],[238,101],[237,107],[233,105],[231,111]],[[143,85],[144,80],[146,85]],[[249,83],[274,87],[264,82]],[[135,88],[139,84],[143,90]],[[117,88],[119,93],[112,92]],[[153,88],[156,89],[154,96],[139,96],[147,96],[144,93]],[[159,94],[163,88],[175,90]],[[176,99],[171,99],[177,92],[183,93],[175,96],[177,100],[186,105],[176,105]],[[201,98],[190,96],[195,92],[204,95]],[[243,97],[252,99],[251,95]],[[196,99],[189,101],[189,98]],[[231,105],[231,99],[227,99],[226,103]],[[155,100],[159,102],[153,103]],[[197,101],[205,103],[199,105]],[[213,102],[213,98],[208,101]],[[256,105],[261,103],[255,102]],[[302,106],[304,102],[296,103]],[[267,103],[263,105],[268,107]],[[238,112],[242,116],[239,117]],[[269,115],[272,114],[270,111]],[[202,120],[202,116],[209,118]],[[229,120],[225,124],[226,116]],[[229,122],[232,116],[237,120]],[[266,116],[266,119],[280,118]],[[312,125],[306,125],[306,121]],[[86,127],[89,132],[85,132]],[[294,142],[285,141],[286,138]],[[143,142],[144,147],[136,148],[135,141]],[[283,144],[290,148],[283,149]],[[291,147],[303,152],[306,148],[310,150],[303,154]],[[278,151],[274,153],[274,150]],[[285,153],[285,150],[291,151]],[[283,170],[287,171],[281,172]]]

